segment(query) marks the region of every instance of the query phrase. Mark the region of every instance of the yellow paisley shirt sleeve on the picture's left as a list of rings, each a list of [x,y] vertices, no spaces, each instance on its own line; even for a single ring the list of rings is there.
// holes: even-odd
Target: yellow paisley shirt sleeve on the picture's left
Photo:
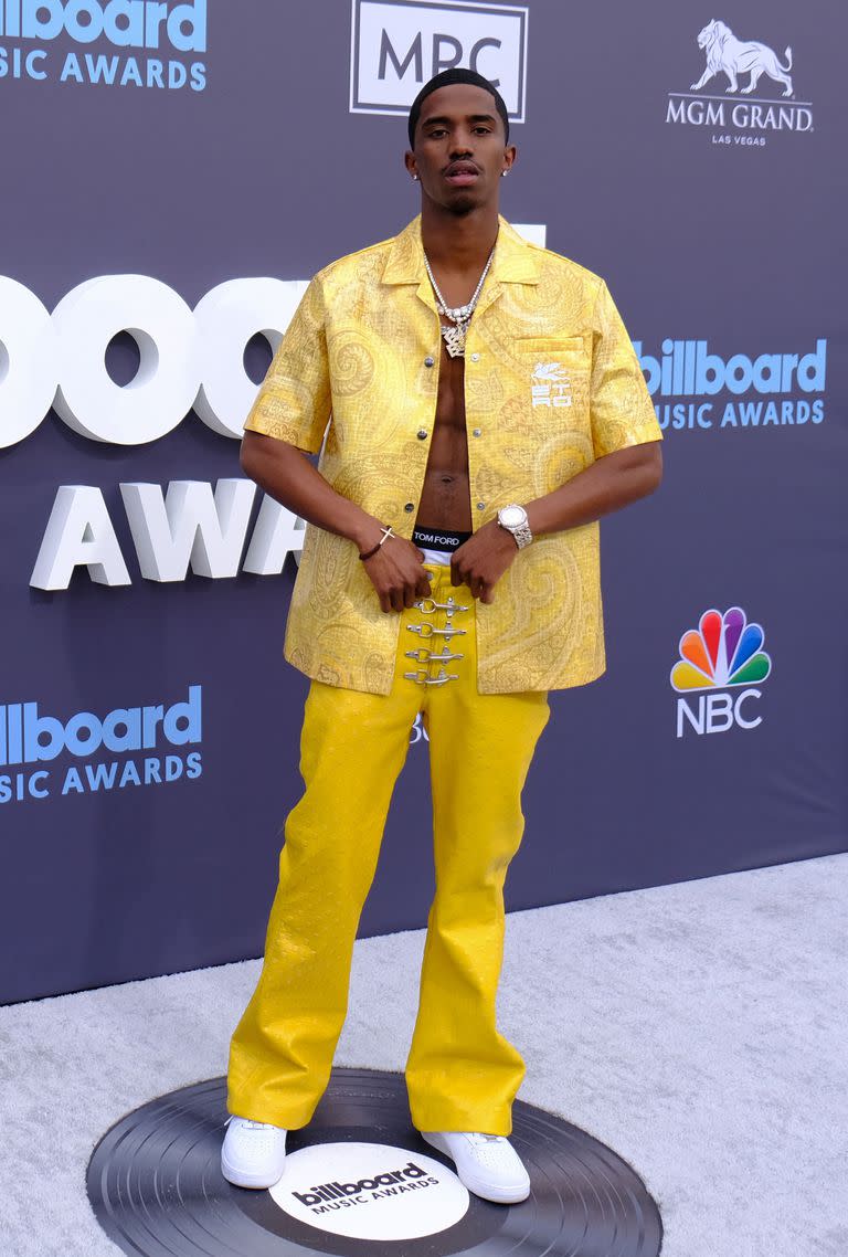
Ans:
[[[317,454],[330,415],[324,298],[318,277],[294,312],[245,429]]]

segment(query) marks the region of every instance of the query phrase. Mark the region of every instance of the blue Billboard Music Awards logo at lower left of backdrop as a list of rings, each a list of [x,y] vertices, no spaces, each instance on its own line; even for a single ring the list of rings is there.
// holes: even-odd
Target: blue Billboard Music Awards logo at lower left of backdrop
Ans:
[[[38,703],[0,705],[0,803],[57,794],[97,794],[127,786],[162,786],[202,773],[202,686],[190,685],[185,701],[171,706],[116,708],[108,715],[77,711],[68,719],[39,710]],[[165,747],[171,752],[158,753]],[[128,759],[113,755],[137,757]],[[70,764],[55,781],[50,768],[63,755],[85,760]]]

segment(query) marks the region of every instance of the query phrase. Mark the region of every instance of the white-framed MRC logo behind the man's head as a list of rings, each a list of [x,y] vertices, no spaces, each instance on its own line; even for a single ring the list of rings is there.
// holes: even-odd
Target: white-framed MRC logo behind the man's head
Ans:
[[[475,0],[353,0],[351,112],[406,113],[435,74],[461,65],[524,122],[528,9]]]

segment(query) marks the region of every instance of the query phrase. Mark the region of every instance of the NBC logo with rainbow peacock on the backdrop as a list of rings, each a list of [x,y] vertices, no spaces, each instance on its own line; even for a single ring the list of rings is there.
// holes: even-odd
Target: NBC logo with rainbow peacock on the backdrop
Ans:
[[[756,688],[771,672],[771,656],[763,650],[765,632],[749,623],[741,607],[705,611],[697,628],[680,639],[680,659],[671,670],[677,699],[677,737],[755,729],[763,716],[751,714],[760,699]],[[731,693],[729,693],[731,691]],[[737,691],[737,693],[734,693]],[[697,699],[695,695],[697,694]]]

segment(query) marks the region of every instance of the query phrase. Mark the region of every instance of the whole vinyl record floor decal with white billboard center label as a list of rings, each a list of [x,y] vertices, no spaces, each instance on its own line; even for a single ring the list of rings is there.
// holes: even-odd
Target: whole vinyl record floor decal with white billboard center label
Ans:
[[[609,1148],[516,1102],[513,1143],[530,1198],[466,1192],[410,1123],[400,1073],[334,1070],[309,1126],[291,1131],[270,1192],[221,1175],[225,1079],[160,1096],[109,1130],[88,1194],[133,1257],[657,1257],[660,1212]]]

